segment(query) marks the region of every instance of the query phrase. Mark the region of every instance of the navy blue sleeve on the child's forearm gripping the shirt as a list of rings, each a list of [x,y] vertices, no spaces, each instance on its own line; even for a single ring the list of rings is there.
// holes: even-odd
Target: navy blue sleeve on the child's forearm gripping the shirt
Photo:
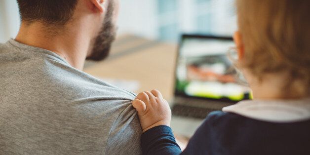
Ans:
[[[181,149],[176,143],[169,126],[156,126],[141,136],[143,155],[180,155]]]

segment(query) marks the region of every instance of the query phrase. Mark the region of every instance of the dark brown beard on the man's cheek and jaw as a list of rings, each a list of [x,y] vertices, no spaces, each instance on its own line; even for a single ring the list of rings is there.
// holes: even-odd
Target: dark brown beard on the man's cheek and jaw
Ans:
[[[101,61],[109,56],[113,41],[116,39],[116,26],[113,22],[113,0],[109,1],[108,12],[99,35],[93,39],[90,54],[86,60]]]

